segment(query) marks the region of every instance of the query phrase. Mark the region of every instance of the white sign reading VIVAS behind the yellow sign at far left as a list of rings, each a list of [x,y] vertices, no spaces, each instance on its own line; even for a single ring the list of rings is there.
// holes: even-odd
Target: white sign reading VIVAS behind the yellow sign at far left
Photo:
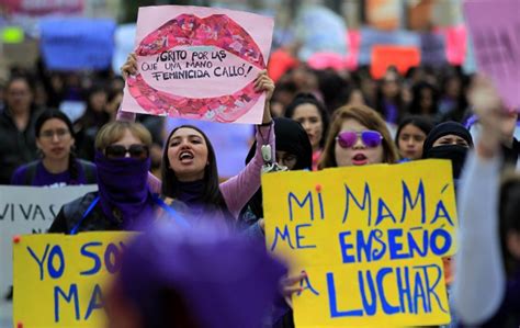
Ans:
[[[0,186],[0,296],[2,298],[10,293],[12,285],[13,237],[45,233],[63,204],[97,188],[97,185]],[[0,320],[9,320],[12,315],[9,310],[10,306],[9,303],[0,303]]]

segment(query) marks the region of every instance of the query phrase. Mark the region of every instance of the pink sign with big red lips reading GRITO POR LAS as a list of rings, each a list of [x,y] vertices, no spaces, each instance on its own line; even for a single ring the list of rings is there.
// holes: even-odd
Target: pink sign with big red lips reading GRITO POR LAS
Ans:
[[[260,123],[265,95],[253,83],[265,69],[273,26],[270,18],[224,9],[139,8],[138,72],[126,80],[123,109]]]

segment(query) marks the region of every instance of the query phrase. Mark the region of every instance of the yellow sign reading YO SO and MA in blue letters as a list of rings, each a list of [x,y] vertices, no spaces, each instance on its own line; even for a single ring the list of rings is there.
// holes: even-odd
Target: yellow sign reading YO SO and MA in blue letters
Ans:
[[[101,296],[120,270],[129,233],[22,236],[13,245],[14,323],[104,327]]]

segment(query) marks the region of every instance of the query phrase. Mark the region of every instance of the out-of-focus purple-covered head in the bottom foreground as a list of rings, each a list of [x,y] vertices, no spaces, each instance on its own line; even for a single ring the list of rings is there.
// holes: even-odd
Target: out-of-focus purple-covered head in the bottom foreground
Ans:
[[[108,327],[261,328],[285,273],[260,242],[162,220],[125,250]]]

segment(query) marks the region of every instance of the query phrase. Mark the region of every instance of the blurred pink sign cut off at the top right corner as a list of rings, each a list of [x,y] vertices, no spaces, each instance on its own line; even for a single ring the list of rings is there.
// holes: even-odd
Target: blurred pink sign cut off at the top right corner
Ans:
[[[520,1],[466,1],[464,14],[478,70],[493,79],[507,106],[520,111]]]

